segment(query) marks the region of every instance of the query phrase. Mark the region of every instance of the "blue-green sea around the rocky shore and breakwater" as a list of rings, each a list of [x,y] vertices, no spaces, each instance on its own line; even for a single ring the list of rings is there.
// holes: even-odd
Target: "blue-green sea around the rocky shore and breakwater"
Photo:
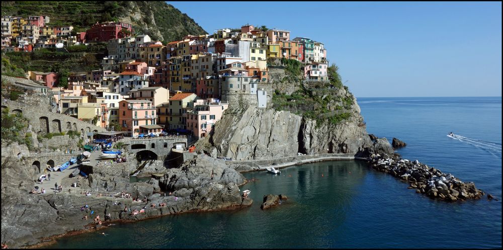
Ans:
[[[53,248],[500,248],[501,97],[358,98],[368,133],[396,137],[403,158],[451,173],[496,200],[416,194],[363,161],[244,173],[254,204],[116,224]],[[448,137],[449,132],[454,137]],[[261,210],[263,196],[284,194]],[[105,234],[101,234],[104,232]]]

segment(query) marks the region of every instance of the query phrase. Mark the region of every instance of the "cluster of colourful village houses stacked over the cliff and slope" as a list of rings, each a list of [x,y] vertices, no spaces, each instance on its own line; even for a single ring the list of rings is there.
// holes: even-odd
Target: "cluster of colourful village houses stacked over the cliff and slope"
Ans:
[[[269,58],[302,62],[305,79],[327,80],[326,49],[310,38],[291,39],[290,31],[253,25],[221,29],[212,35],[187,35],[162,44],[134,34],[131,24],[96,24],[74,33],[72,26],[49,26],[49,17],[2,18],[2,51],[33,52],[53,47],[107,43],[101,68],[71,72],[66,89],[56,72],[28,71],[43,85],[57,112],[126,136],[158,135],[168,130],[207,135],[236,96],[267,107]],[[15,41],[17,46],[11,46]],[[266,88],[267,89],[267,88]],[[115,126],[113,126],[115,124]]]

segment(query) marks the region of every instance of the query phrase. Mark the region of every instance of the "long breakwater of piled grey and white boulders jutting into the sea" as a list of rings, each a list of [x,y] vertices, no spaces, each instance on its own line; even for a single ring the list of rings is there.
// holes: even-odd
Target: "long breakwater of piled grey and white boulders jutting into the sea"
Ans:
[[[369,164],[379,172],[389,173],[410,183],[410,189],[415,189],[416,193],[425,194],[433,199],[454,202],[480,199],[484,196],[484,192],[477,189],[473,182],[464,183],[450,173],[442,173],[417,160],[410,161],[397,156],[385,157],[372,154]]]

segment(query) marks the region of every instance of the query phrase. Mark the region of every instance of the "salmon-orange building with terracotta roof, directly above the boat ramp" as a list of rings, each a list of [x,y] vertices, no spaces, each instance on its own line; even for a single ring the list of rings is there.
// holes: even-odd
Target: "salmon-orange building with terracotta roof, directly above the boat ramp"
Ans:
[[[122,131],[132,136],[142,134],[159,134],[162,127],[156,125],[156,109],[152,102],[146,100],[124,100],[119,102],[119,124]]]

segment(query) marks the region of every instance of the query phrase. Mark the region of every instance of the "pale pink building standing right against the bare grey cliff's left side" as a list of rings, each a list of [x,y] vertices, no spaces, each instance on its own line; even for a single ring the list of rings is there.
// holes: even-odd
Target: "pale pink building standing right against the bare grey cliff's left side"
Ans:
[[[215,98],[194,101],[194,109],[184,114],[187,115],[187,129],[198,138],[205,137],[228,107],[227,103]]]

